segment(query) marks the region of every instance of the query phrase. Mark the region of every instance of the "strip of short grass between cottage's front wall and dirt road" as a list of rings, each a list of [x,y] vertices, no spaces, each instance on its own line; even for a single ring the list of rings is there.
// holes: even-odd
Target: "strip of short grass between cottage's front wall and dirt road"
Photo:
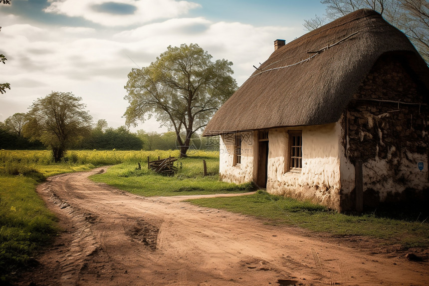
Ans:
[[[189,201],[202,207],[254,216],[268,224],[286,224],[336,236],[370,236],[400,243],[405,248],[429,246],[429,224],[423,221],[425,218],[410,221],[378,217],[374,213],[360,216],[339,214],[320,205],[264,191],[248,196]]]

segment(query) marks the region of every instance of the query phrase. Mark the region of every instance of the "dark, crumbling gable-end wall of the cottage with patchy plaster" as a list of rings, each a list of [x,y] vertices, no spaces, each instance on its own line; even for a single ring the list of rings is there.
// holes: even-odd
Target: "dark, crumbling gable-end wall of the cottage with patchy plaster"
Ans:
[[[418,199],[428,182],[428,91],[405,62],[378,60],[340,119],[342,205],[353,209],[354,164],[363,161],[364,206]]]

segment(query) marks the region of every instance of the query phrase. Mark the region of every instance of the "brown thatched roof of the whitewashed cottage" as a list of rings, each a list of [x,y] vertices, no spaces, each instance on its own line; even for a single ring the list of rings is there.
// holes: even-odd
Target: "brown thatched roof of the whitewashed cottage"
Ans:
[[[387,52],[405,57],[429,89],[429,68],[404,33],[376,11],[361,9],[275,50],[219,108],[203,135],[336,122]]]

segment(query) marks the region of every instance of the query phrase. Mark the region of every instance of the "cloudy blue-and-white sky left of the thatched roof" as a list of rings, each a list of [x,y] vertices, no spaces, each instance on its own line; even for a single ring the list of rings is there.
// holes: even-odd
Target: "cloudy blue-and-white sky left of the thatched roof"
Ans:
[[[127,75],[169,45],[197,43],[233,62],[240,86],[274,51],[322,15],[319,0],[11,0],[0,4],[0,121],[52,91],[82,98],[94,124],[125,124]],[[154,117],[131,131],[165,132]]]

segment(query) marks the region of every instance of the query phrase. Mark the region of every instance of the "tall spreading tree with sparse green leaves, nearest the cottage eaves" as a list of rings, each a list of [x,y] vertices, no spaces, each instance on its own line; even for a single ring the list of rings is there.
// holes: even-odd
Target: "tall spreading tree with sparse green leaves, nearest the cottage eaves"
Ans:
[[[147,67],[133,68],[125,86],[126,124],[136,126],[156,114],[161,126],[176,133],[180,156],[186,157],[192,135],[237,88],[232,62],[211,59],[198,44],[182,44],[169,46]]]

